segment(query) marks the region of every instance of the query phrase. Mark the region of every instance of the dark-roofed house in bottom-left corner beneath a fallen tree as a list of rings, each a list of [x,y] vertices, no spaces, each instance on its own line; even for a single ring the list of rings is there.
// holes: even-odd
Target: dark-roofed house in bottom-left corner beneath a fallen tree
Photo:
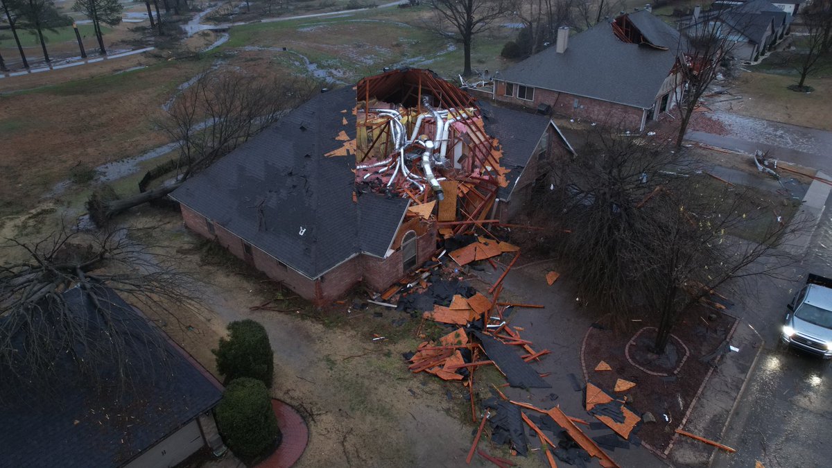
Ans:
[[[91,318],[97,316],[95,306],[80,288],[63,294],[95,336],[106,334],[109,326],[130,327],[131,334],[122,336],[133,378],[123,389],[106,381],[98,390],[77,377],[67,353],[54,363],[55,380],[61,382],[54,395],[4,394],[0,467],[169,467],[206,445],[223,448],[211,414],[221,397],[218,381],[162,331],[136,320],[135,309],[115,292],[107,289],[101,304],[116,325]],[[151,349],[145,336],[157,338],[151,346],[161,349]],[[106,376],[116,369],[99,371]]]

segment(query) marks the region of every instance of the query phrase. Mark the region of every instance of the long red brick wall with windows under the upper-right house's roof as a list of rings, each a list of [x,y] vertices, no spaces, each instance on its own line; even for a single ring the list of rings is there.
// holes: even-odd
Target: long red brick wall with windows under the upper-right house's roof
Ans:
[[[515,96],[517,95],[517,86],[514,85]],[[531,112],[537,111],[537,106],[540,104],[548,104],[552,106],[552,113],[557,115],[612,126],[621,126],[631,131],[638,131],[641,128],[643,110],[638,107],[599,101],[589,97],[575,96],[567,92],[550,91],[541,88],[534,90],[533,101],[527,101],[518,97],[504,96],[505,90],[506,83],[497,82],[497,95],[494,98],[500,102],[509,102],[527,107]],[[577,108],[575,107],[576,99],[578,102]]]

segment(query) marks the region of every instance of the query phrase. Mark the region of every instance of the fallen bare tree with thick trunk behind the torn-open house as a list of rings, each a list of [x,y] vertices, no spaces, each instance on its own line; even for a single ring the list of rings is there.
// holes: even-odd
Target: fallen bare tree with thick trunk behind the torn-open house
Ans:
[[[135,197],[113,199],[104,191],[93,192],[87,210],[98,226],[116,214],[152,202],[176,190],[189,177],[277,121],[290,107],[305,101],[317,84],[305,79],[255,77],[228,70],[200,74],[196,82],[176,98],[160,122],[179,144],[179,157],[154,177],[176,171],[176,182],[146,190],[148,177]],[[152,178],[152,177],[151,177]]]

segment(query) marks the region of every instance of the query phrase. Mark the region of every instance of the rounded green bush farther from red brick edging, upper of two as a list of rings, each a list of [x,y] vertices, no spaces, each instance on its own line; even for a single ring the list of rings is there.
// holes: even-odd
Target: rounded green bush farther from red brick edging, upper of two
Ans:
[[[228,331],[228,339],[220,338],[219,348],[212,351],[216,356],[216,369],[225,376],[225,382],[250,377],[270,388],[275,375],[275,356],[265,328],[246,319],[232,321]]]

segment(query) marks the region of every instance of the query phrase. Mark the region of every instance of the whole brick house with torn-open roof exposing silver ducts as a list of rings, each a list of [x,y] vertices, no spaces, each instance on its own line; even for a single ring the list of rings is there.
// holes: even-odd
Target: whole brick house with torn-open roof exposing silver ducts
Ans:
[[[383,291],[439,236],[508,220],[518,179],[537,177],[548,142],[565,148],[547,118],[488,117],[475,101],[426,70],[367,77],[314,97],[171,197],[186,227],[310,301],[360,281]]]

